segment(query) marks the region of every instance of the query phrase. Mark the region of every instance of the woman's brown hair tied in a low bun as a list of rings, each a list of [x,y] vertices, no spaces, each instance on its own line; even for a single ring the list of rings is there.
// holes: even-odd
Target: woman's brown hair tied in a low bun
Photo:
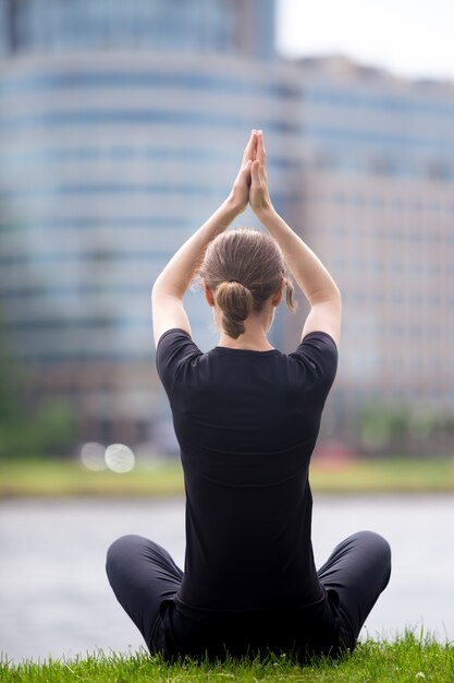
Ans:
[[[210,242],[199,268],[222,311],[222,328],[236,339],[245,332],[244,321],[287,277],[282,252],[272,237],[259,230],[240,228],[222,232]],[[286,304],[294,310],[293,285],[286,279]]]

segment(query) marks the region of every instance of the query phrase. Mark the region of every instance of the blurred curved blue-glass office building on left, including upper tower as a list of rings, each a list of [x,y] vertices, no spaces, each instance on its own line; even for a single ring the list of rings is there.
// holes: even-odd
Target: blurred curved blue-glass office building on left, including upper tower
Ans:
[[[27,366],[32,399],[71,402],[85,439],[143,441],[165,404],[156,393],[152,281],[226,196],[251,128],[272,136],[278,204],[292,201],[299,91],[268,61],[272,40],[253,50],[240,35],[257,2],[1,7],[8,339]],[[271,2],[259,19],[265,25],[266,8],[272,27]],[[187,305],[207,348],[216,334],[196,299],[191,291]]]

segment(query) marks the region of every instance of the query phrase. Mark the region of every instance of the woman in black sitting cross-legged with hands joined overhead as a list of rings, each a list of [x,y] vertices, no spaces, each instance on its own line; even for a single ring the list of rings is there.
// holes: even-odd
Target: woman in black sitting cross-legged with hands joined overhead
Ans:
[[[247,203],[267,232],[226,232]],[[287,267],[310,307],[289,356],[267,338],[285,288],[292,305]],[[220,332],[208,354],[183,307],[197,271]],[[308,467],[336,369],[341,297],[272,206],[261,131],[228,200],[156,280],[152,321],[185,476],[185,571],[157,543],[123,537],[107,563],[116,598],[168,658],[353,649],[388,584],[390,548],[361,531],[315,568]]]

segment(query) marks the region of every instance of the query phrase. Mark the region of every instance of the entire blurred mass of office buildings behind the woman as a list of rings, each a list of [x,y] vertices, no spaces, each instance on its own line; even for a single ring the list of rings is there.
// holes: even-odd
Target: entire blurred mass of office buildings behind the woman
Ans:
[[[2,315],[30,396],[70,400],[85,439],[152,436],[150,287],[225,196],[251,128],[277,207],[342,289],[328,432],[351,439],[372,400],[454,412],[454,87],[279,60],[273,14],[0,0]],[[209,311],[187,305],[209,348]],[[303,312],[281,312],[285,350]]]

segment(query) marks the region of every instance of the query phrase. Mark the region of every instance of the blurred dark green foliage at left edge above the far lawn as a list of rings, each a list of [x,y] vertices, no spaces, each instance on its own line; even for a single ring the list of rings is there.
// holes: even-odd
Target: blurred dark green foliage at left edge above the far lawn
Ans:
[[[77,433],[73,411],[58,398],[30,406],[24,370],[1,331],[0,325],[0,458],[68,453]]]

